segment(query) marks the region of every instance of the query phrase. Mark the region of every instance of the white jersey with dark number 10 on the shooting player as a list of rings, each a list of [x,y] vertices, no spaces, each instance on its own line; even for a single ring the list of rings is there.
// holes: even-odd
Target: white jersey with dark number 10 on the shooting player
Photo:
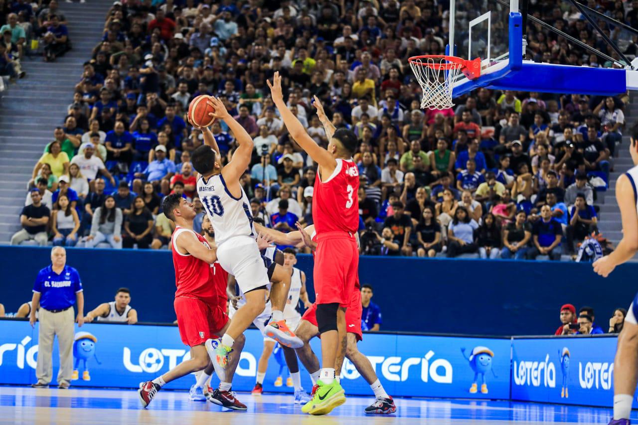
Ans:
[[[197,193],[211,219],[218,246],[235,236],[256,237],[250,201],[241,188],[241,196],[235,198],[228,190],[223,175],[212,175],[205,181],[197,180]]]

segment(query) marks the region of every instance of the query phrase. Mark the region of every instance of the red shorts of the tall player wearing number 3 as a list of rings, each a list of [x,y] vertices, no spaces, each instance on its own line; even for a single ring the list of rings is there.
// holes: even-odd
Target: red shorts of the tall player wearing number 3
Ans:
[[[359,279],[359,248],[354,237],[344,232],[318,236],[315,251],[315,299],[317,304],[338,302],[348,307],[350,295]]]

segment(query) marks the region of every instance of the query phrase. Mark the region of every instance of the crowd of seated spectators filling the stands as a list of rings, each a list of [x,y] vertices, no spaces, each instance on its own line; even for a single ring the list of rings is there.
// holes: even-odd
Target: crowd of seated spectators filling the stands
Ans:
[[[635,2],[590,3],[638,20]],[[200,94],[219,96],[255,140],[242,177],[253,215],[283,231],[311,224],[315,164],[289,137],[265,84],[279,71],[288,105],[318,144],[328,140],[314,95],[360,140],[362,253],[573,253],[597,228],[597,190],[608,183],[627,97],[479,89],[455,108],[421,110],[407,59],[441,52],[448,8],[434,0],[115,1],[68,115],[43,144],[12,242],[165,246],[173,224],[159,211],[163,195],[182,193],[204,214],[189,163],[203,138],[185,120]],[[530,14],[618,57],[568,4],[538,1]],[[635,37],[600,24],[634,57]],[[527,40],[535,61],[616,66],[540,26],[528,26]],[[227,161],[232,133],[219,122],[212,133]]]

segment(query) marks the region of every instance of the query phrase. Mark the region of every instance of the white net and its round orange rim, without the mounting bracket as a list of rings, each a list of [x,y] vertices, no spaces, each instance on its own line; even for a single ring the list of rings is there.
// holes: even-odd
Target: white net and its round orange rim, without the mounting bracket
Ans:
[[[410,59],[410,68],[423,91],[422,109],[446,109],[454,106],[452,86],[461,67],[461,64],[450,63],[445,57]]]

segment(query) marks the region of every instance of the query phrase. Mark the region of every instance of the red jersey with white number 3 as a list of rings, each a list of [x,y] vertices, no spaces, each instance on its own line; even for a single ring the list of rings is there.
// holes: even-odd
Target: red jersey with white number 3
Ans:
[[[322,178],[325,181],[322,182]],[[359,229],[359,168],[353,160],[337,160],[329,177],[317,175],[313,193],[313,221],[317,234]]]

